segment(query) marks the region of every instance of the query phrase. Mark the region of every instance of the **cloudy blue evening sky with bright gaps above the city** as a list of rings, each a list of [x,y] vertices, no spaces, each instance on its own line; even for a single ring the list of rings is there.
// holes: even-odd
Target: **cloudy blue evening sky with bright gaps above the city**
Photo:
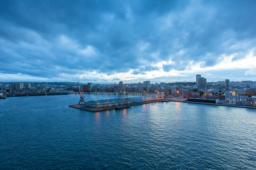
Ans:
[[[0,81],[256,81],[255,0],[0,0]]]

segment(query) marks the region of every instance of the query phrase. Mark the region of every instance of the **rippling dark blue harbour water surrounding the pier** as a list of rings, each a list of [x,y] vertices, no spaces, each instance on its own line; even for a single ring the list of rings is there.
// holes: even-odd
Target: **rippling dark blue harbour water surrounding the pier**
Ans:
[[[118,96],[99,95],[110,98]],[[0,100],[0,169],[256,169],[256,110],[180,102],[96,113],[68,107],[78,101]]]

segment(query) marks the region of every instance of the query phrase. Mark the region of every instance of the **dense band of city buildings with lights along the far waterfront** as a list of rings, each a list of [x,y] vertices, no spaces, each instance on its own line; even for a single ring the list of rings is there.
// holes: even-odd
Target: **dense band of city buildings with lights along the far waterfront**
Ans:
[[[239,104],[252,99],[256,95],[256,81],[235,82],[225,81],[206,82],[206,78],[196,75],[196,82],[155,83],[150,81],[143,83],[118,84],[81,84],[84,92],[127,92],[127,93],[157,93],[163,91],[170,96],[184,96],[186,98],[219,99],[220,102],[229,101]],[[2,93],[45,93],[45,92],[77,92],[75,82],[0,82]],[[231,93],[231,94],[230,94]],[[243,101],[243,102],[242,102]]]

